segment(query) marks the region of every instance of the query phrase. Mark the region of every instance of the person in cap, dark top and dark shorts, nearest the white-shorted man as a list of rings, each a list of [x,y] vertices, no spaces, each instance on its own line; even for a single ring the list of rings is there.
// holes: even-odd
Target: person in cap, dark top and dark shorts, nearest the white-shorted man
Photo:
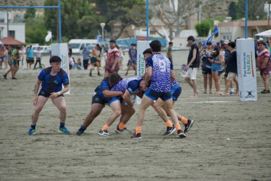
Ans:
[[[207,80],[209,82],[209,93],[212,92],[212,64],[208,59],[213,58],[212,53],[212,43],[208,41],[206,43],[206,48],[200,52],[200,58],[202,57],[201,66],[202,66],[202,74],[203,74],[203,86],[204,92],[207,93]]]

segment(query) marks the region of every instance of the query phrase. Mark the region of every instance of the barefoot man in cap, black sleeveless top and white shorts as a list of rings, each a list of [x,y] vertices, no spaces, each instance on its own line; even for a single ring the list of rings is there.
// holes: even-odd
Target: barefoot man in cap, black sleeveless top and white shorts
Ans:
[[[200,54],[199,48],[195,43],[195,38],[193,36],[188,36],[188,44],[191,46],[188,54],[188,65],[186,69],[188,70],[188,75],[185,80],[193,88],[193,95],[190,98],[197,98],[197,70],[200,67]]]

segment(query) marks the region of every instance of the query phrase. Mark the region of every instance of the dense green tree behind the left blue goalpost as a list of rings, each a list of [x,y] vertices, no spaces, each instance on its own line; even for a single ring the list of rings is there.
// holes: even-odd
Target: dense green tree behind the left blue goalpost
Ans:
[[[44,6],[58,5],[57,0],[45,0]],[[95,20],[96,12],[89,0],[61,0],[61,27],[63,39],[96,38],[89,29],[97,27],[95,22],[84,24],[83,17]],[[44,18],[47,30],[58,34],[58,9],[45,9]],[[96,22],[97,23],[97,22]],[[88,27],[87,27],[88,26]],[[94,27],[94,28],[93,28]],[[93,30],[94,31],[94,30]]]

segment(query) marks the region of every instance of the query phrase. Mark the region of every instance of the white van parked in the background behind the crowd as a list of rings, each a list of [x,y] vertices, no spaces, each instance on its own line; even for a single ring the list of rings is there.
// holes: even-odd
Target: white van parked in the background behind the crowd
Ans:
[[[96,39],[71,39],[68,45],[71,45],[72,53],[81,53],[84,46],[95,46]]]

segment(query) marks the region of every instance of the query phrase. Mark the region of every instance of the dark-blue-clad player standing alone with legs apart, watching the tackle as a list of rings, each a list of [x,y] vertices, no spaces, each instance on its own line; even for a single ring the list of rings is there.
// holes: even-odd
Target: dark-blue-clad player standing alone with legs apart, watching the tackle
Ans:
[[[60,111],[60,128],[59,133],[69,134],[69,130],[65,127],[66,120],[66,102],[63,93],[69,91],[69,78],[67,73],[61,68],[61,58],[53,56],[50,58],[51,67],[45,68],[41,71],[38,80],[34,87],[33,104],[35,111],[32,114],[31,128],[28,131],[28,135],[36,134],[36,123],[38,122],[39,114],[48,98],[52,99],[52,102]],[[42,89],[38,94],[40,85]],[[64,89],[62,89],[62,85]]]

